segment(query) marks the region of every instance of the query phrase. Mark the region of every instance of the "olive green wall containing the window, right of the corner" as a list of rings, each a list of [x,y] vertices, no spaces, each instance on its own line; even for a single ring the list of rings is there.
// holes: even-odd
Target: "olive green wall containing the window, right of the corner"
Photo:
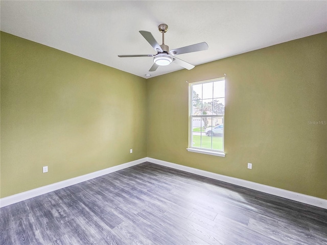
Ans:
[[[322,33],[148,79],[147,156],[327,199],[326,59]],[[224,74],[226,157],[188,152],[186,81]]]

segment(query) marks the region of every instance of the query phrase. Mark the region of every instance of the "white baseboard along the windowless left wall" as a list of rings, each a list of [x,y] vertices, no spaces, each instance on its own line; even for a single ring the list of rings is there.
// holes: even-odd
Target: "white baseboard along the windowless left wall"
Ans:
[[[42,195],[45,193],[49,193],[51,191],[54,190],[58,190],[67,186],[71,186],[71,185],[75,185],[78,183],[81,183],[83,181],[86,180],[90,180],[90,179],[94,179],[103,175],[107,175],[110,174],[112,172],[127,168],[127,167],[131,167],[143,162],[146,162],[147,158],[142,158],[142,159],[138,159],[135,161],[131,161],[131,162],[127,162],[127,163],[123,163],[120,165],[116,165],[113,167],[109,167],[109,168],[105,168],[99,171],[95,171],[93,173],[90,174],[86,174],[86,175],[82,175],[82,176],[78,176],[72,179],[68,179],[68,180],[64,180],[64,181],[60,181],[54,184],[50,184],[50,185],[46,185],[46,186],[42,186],[33,190],[28,190],[28,191],[24,191],[15,195],[10,195],[9,197],[6,198],[2,198],[0,199],[0,207],[5,207],[14,203],[18,203],[30,198],[34,198],[37,197],[38,195]]]

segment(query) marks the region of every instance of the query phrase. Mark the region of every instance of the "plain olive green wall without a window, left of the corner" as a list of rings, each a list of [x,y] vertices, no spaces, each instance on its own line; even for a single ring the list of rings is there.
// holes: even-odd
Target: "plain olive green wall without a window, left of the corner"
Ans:
[[[145,135],[145,79],[1,32],[2,198],[144,158]]]

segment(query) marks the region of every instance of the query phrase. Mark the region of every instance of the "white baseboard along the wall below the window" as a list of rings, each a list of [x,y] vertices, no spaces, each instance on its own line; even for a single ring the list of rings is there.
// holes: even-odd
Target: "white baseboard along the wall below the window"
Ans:
[[[242,179],[238,179],[238,178],[219,175],[219,174],[211,173],[208,171],[200,170],[197,168],[183,166],[183,165],[179,165],[176,163],[166,162],[166,161],[162,161],[162,160],[158,160],[158,159],[154,159],[154,158],[150,158],[150,157],[147,157],[147,161],[158,164],[158,165],[179,169],[179,170],[189,172],[189,173],[192,173],[195,175],[200,175],[203,177],[220,180],[220,181],[227,182],[230,184],[243,186],[243,187],[246,187],[246,188],[249,188],[252,190],[258,190],[258,191],[265,192],[268,194],[277,195],[278,197],[282,197],[282,198],[290,199],[293,201],[306,203],[309,205],[327,209],[327,200],[312,197],[311,195],[305,195],[305,194],[301,194],[301,193],[297,193],[297,192],[293,192],[293,191],[289,191],[289,190],[284,190],[284,189],[280,189],[280,188],[276,188],[276,187],[272,187],[272,186],[268,186],[268,185],[258,184],[258,183],[247,181],[247,180],[242,180]]]

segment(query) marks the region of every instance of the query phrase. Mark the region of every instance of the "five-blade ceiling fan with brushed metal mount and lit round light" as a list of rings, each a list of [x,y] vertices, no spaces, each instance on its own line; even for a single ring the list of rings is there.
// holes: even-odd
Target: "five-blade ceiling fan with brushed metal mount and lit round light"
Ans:
[[[151,32],[139,31],[141,35],[150,43],[150,45],[156,50],[156,55],[119,55],[118,57],[153,57],[154,64],[149,71],[155,71],[159,66],[169,65],[172,62],[191,70],[195,66],[178,59],[175,55],[192,53],[197,51],[203,51],[208,49],[208,44],[206,42],[200,42],[197,44],[175,48],[174,50],[169,50],[169,46],[165,44],[165,32],[168,30],[167,24],[159,24],[159,32],[162,33],[162,44],[159,45],[158,42],[154,39]]]

